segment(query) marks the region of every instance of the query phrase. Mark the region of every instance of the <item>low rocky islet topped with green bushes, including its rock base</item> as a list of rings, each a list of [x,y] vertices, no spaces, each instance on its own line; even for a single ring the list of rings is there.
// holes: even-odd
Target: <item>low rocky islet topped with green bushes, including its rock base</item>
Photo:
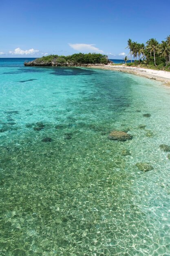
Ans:
[[[68,67],[87,67],[101,66],[113,63],[107,55],[96,53],[78,53],[69,56],[49,55],[42,58],[36,58],[33,61],[25,62],[25,66],[68,66]]]

